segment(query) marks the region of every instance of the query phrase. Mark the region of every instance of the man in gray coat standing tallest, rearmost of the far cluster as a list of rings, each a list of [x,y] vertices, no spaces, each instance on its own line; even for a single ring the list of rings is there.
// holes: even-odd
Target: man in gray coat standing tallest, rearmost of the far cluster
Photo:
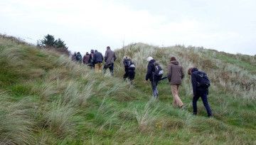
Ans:
[[[105,65],[104,65],[104,73],[106,73],[107,68],[110,68],[111,75],[114,75],[114,60],[117,59],[114,51],[110,49],[110,46],[107,46],[107,50],[105,53]]]

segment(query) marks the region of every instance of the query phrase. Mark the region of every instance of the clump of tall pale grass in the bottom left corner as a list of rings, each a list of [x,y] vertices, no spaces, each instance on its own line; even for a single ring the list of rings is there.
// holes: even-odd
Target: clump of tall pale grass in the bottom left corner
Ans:
[[[0,93],[0,144],[34,144],[33,120],[26,100],[9,102],[9,95]]]

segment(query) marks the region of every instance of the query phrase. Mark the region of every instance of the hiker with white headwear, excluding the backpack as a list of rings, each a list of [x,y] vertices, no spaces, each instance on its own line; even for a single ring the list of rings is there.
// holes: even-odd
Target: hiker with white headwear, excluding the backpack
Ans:
[[[149,56],[149,58],[147,58],[146,60],[149,62],[149,64],[147,65],[146,81],[147,80],[151,81],[153,96],[156,98],[159,95],[159,92],[157,90],[157,85],[161,78],[154,75],[154,72],[155,72],[154,63],[156,62],[156,60],[154,60],[151,56]]]

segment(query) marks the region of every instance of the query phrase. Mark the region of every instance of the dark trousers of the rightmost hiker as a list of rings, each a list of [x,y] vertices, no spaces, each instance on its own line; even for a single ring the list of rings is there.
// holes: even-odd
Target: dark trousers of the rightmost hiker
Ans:
[[[198,101],[199,97],[201,97],[203,101],[203,105],[204,107],[206,107],[208,117],[212,116],[213,114],[211,112],[210,105],[208,104],[208,100],[207,100],[207,91],[199,92],[197,93],[196,96],[193,97],[193,114],[197,114],[196,102]]]

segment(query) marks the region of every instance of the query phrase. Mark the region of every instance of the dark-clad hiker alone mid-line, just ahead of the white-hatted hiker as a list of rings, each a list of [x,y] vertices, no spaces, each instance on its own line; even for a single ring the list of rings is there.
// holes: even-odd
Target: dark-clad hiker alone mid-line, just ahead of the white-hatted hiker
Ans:
[[[132,62],[132,59],[129,58],[128,56],[124,56],[123,58],[123,63],[124,63],[124,80],[128,77],[130,80],[131,84],[133,84],[134,76],[135,76],[135,65]]]

